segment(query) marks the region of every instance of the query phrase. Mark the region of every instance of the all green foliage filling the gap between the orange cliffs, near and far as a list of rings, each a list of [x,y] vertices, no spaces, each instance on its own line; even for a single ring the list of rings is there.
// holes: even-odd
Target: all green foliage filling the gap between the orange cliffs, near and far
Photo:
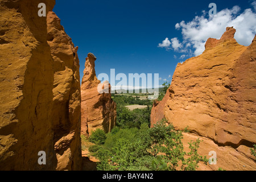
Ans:
[[[164,84],[164,95],[170,85]],[[139,100],[138,96],[114,94],[117,103],[117,126],[108,134],[102,130],[92,133],[89,140],[96,145],[89,151],[100,160],[98,170],[195,170],[206,156],[197,154],[200,140],[189,143],[190,152],[185,152],[182,132],[163,119],[150,128],[152,101]],[[130,111],[127,105],[147,105],[146,109]]]

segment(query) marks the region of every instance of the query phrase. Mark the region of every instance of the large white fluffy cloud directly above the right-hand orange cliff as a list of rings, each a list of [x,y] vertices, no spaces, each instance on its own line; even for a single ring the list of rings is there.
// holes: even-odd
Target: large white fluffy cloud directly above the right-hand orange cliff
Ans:
[[[249,46],[256,33],[256,1],[253,1],[251,5],[254,9],[246,9],[241,12],[239,6],[234,6],[232,9],[219,11],[213,17],[209,17],[203,11],[201,16],[195,16],[191,22],[177,23],[175,28],[181,30],[183,42],[180,43],[177,38],[172,38],[168,47],[172,46],[174,51],[185,52],[187,55],[192,53],[197,56],[204,51],[204,45],[208,38],[220,39],[226,27],[232,26],[237,30],[234,37],[237,42],[243,46]],[[173,44],[173,39],[175,44]]]

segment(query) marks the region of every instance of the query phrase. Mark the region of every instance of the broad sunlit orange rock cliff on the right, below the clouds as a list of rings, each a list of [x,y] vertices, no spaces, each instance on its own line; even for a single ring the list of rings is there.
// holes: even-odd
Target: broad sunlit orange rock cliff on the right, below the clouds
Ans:
[[[205,51],[178,64],[171,86],[160,106],[153,107],[176,129],[189,127],[184,143],[203,139],[200,155],[217,153],[217,165],[199,169],[255,170],[250,147],[256,143],[256,40],[249,47],[226,28],[220,40],[209,38]],[[164,105],[164,107],[163,107]],[[162,113],[162,115],[161,115]],[[188,147],[188,144],[186,144]]]

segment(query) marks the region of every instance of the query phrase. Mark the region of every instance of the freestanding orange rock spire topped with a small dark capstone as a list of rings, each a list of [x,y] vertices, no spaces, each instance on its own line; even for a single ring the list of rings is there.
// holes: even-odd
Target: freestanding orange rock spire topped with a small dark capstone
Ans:
[[[108,81],[101,84],[95,73],[96,57],[89,53],[85,61],[81,85],[81,133],[90,135],[96,129],[108,133],[116,122],[116,104],[111,98]],[[99,90],[98,90],[98,85]],[[109,92],[101,92],[108,90]]]

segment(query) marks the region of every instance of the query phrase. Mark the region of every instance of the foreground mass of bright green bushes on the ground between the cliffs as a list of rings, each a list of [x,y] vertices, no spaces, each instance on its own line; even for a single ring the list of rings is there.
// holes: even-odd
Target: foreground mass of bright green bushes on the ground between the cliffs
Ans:
[[[189,143],[190,152],[185,152],[181,131],[174,129],[166,120],[153,128],[148,123],[125,129],[115,127],[106,134],[104,144],[90,148],[100,159],[98,170],[195,170],[206,157],[197,154],[200,140]]]

